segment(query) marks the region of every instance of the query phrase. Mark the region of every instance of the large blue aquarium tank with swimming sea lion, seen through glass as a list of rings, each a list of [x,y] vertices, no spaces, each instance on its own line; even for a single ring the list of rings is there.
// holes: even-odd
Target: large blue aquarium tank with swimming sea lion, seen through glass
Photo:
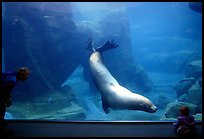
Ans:
[[[5,119],[202,120],[201,2],[2,2]]]

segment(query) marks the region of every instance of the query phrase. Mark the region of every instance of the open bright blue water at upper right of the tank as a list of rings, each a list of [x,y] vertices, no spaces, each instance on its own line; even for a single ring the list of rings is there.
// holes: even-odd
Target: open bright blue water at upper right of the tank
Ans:
[[[133,52],[143,66],[146,53],[172,54],[178,51],[199,51],[202,55],[202,14],[188,8],[186,2],[149,2],[130,6]],[[166,63],[168,66],[168,63]],[[164,67],[165,68],[165,67]]]

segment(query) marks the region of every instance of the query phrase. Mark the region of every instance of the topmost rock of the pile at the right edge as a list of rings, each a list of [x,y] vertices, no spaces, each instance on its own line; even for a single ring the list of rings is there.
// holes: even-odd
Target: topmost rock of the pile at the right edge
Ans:
[[[191,61],[187,65],[186,77],[199,79],[202,76],[202,60]]]

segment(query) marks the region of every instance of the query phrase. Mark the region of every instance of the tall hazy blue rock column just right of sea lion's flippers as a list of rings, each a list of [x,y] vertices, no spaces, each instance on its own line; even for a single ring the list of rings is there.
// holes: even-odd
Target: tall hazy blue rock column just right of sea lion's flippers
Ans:
[[[125,12],[123,10],[111,12],[105,19],[102,19],[101,28],[103,34],[106,34],[107,30],[109,30],[102,40],[113,38],[119,44],[119,47],[112,53],[107,53],[109,58],[104,56],[107,67],[110,68],[115,78],[124,84],[126,82],[135,82],[135,86],[144,92],[151,91],[152,81],[144,68],[133,57],[129,22]]]

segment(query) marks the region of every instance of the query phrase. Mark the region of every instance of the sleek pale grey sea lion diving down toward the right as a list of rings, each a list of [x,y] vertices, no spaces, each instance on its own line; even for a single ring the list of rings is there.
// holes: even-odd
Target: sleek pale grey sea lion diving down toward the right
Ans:
[[[118,47],[113,41],[107,41],[104,45],[94,48],[92,39],[87,43],[87,49],[92,51],[89,57],[89,66],[93,80],[101,94],[102,107],[105,113],[109,113],[109,107],[115,109],[142,110],[149,113],[157,111],[157,107],[146,97],[132,93],[121,86],[103,64],[101,53],[105,50]]]

